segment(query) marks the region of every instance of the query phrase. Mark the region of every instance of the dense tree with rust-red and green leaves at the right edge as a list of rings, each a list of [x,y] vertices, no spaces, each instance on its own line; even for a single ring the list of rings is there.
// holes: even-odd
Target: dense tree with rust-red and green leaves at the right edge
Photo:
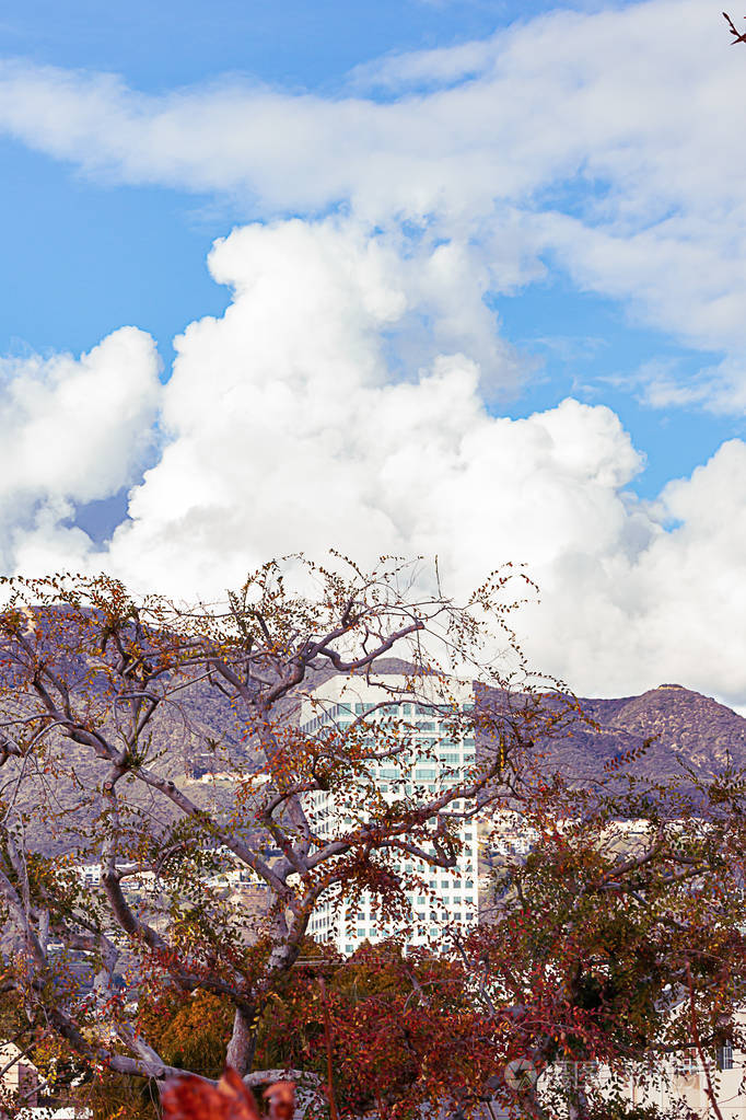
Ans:
[[[503,1061],[545,1073],[527,1114],[608,1118],[631,1071],[665,1080],[679,1055],[703,1067],[719,1116],[716,1047],[746,1051],[744,775],[665,787],[623,769],[525,806],[536,842],[497,874],[464,964],[492,1021],[509,1024]],[[585,1075],[596,1064],[603,1091]]]

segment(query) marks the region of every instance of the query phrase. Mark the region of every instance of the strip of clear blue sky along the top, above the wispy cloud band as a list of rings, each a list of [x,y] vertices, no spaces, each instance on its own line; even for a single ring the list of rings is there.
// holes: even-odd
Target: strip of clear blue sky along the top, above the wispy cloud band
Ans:
[[[244,73],[282,86],[333,88],[355,66],[393,52],[452,46],[557,7],[518,0],[215,0],[102,6],[81,0],[6,8],[7,55],[115,71],[149,91]],[[621,4],[620,4],[621,7]]]

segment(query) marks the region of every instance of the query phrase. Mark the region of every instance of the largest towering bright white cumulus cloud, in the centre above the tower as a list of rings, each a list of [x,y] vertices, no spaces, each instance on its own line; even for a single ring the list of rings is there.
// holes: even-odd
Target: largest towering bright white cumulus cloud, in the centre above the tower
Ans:
[[[492,417],[460,353],[402,381],[389,343],[423,282],[385,240],[352,221],[253,225],[210,265],[234,301],[177,340],[170,442],[112,544],[131,578],[154,564],[193,594],[267,551],[334,544],[368,558],[438,552],[463,587],[491,560],[545,564],[584,536],[616,540],[617,492],[640,466],[616,417],[574,401]]]

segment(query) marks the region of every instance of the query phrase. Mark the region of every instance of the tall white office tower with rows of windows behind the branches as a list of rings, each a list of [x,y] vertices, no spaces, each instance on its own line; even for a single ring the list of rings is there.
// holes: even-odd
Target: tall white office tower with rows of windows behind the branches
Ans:
[[[387,676],[387,685],[405,689],[403,676]],[[424,692],[425,685],[421,691]],[[459,706],[469,710],[474,702],[470,684],[451,684],[452,710]],[[390,701],[391,693],[378,685],[348,678],[332,678],[317,689],[303,704],[301,729],[310,735],[324,737],[349,735],[352,721],[367,713],[370,730],[360,731],[366,747],[377,745],[378,758],[367,759],[365,773],[375,787],[378,808],[400,797],[416,797],[421,803],[443,788],[454,785],[475,759],[474,738],[462,735],[460,740],[448,734],[445,707],[435,710],[423,696],[419,703],[402,696],[385,709],[376,706]],[[433,692],[432,701],[442,698]],[[399,737],[397,739],[396,737]],[[388,737],[388,738],[387,738]],[[386,746],[396,741],[405,744],[394,757],[383,757]],[[372,754],[374,752],[371,752]],[[366,821],[365,781],[360,777],[350,794],[350,803],[341,804],[339,795],[314,792],[306,797],[305,811],[312,822],[319,843],[331,839]],[[471,806],[463,801],[452,802],[444,815],[463,813]],[[478,917],[478,862],[479,836],[476,821],[453,815],[461,852],[451,869],[431,867],[426,862],[402,855],[391,858],[391,869],[407,878],[409,916],[393,922],[380,915],[376,897],[366,890],[356,907],[341,905],[329,898],[317,909],[309,928],[319,941],[331,941],[340,953],[349,955],[365,941],[376,942],[393,934],[406,932],[408,944],[441,941],[456,927],[473,925]]]

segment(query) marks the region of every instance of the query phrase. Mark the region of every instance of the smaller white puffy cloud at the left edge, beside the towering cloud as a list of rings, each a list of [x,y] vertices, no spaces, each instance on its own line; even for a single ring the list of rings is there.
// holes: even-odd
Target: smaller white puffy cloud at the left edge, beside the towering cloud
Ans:
[[[78,504],[133,482],[153,444],[152,339],[123,327],[79,360],[0,362],[0,566],[74,567],[91,548],[66,528]],[[44,563],[44,559],[54,563]]]

